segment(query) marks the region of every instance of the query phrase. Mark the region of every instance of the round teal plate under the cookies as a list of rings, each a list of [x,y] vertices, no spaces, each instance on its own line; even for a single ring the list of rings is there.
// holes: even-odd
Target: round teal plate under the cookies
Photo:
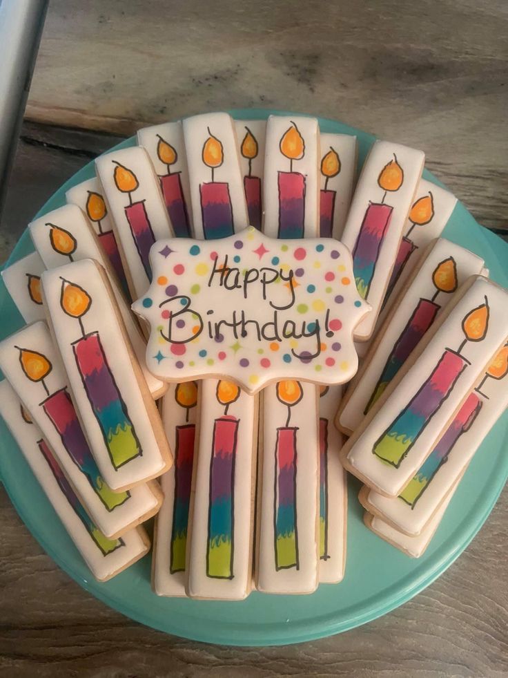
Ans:
[[[272,111],[231,111],[238,118],[265,118]],[[373,136],[333,120],[322,131],[355,134],[360,163]],[[120,147],[133,145],[133,139]],[[65,203],[66,190],[93,176],[93,163],[73,176],[37,216]],[[439,183],[429,172],[425,178]],[[444,236],[485,258],[491,278],[508,287],[508,245],[480,227],[458,203]],[[25,232],[10,263],[33,249]],[[0,337],[23,325],[3,284],[0,288]],[[485,438],[460,483],[427,552],[418,560],[373,535],[363,525],[354,479],[349,487],[347,563],[344,581],[321,585],[311,596],[270,596],[254,592],[241,603],[190,601],[156,596],[150,589],[150,556],[112,581],[97,583],[43,495],[6,426],[0,422],[0,472],[21,519],[53,560],[106,605],[153,628],[177,636],[225,645],[263,646],[297,643],[346,631],[402,605],[434,581],[467,547],[485,522],[508,477],[508,417]]]

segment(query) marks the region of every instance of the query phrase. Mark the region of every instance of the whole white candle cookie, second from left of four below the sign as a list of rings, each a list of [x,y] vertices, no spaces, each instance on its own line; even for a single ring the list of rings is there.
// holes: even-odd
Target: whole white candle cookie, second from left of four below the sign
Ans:
[[[251,592],[256,451],[257,397],[205,379],[187,551],[192,598]]]

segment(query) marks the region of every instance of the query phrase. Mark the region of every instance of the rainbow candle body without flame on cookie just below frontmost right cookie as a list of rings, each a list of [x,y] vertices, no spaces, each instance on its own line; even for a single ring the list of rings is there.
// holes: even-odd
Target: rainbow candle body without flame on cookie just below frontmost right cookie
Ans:
[[[427,489],[429,482],[431,482],[434,475],[442,467],[442,464],[446,462],[449,453],[462,433],[469,431],[481,408],[482,401],[476,393],[471,393],[458,411],[453,422],[451,422],[448,429],[442,435],[431,455],[425,460],[413,478],[411,478],[404,491],[400,493],[400,498],[409,504],[411,508],[415,507],[416,502],[420,499],[425,489]]]

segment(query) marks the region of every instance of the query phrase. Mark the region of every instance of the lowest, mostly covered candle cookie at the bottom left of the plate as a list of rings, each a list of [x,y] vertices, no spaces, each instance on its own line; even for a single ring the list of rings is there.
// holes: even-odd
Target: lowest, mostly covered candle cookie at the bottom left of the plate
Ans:
[[[142,527],[119,538],[109,538],[94,524],[61,470],[41,430],[9,383],[0,382],[0,415],[26,458],[70,538],[99,581],[107,581],[142,558],[150,540]]]

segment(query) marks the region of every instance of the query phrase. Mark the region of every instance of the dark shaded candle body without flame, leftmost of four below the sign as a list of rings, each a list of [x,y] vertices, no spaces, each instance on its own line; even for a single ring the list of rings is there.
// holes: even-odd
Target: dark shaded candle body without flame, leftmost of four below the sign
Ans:
[[[195,424],[175,428],[175,494],[171,528],[170,572],[184,572],[190,484],[193,478]]]

